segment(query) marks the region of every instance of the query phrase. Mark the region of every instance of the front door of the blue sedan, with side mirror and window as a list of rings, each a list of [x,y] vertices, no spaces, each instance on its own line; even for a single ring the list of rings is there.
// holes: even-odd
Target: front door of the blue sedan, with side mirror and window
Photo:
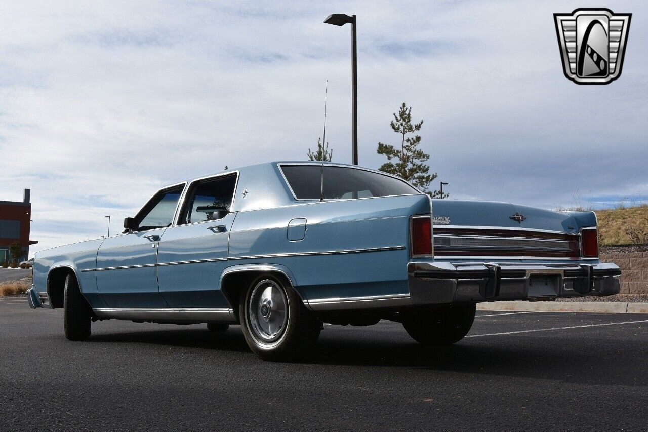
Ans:
[[[135,216],[137,230],[108,237],[97,252],[97,288],[108,307],[168,307],[157,289],[157,245],[172,223],[185,184],[162,189]]]

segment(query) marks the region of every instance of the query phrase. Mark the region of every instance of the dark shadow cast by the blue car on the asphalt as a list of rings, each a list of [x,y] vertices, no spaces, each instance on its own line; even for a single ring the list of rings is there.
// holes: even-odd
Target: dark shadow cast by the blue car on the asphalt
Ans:
[[[360,335],[326,335],[308,357],[290,364],[383,366],[467,374],[511,376],[597,385],[648,385],[648,374],[632,373],[638,358],[648,358],[640,341],[572,338],[568,341],[537,335],[528,339],[464,339],[452,346],[425,347],[413,341],[364,339]],[[95,343],[137,343],[219,352],[250,353],[238,326],[222,333],[201,328],[95,333]],[[593,344],[595,346],[593,346]],[[250,353],[251,354],[251,353]],[[636,365],[635,365],[636,366]]]

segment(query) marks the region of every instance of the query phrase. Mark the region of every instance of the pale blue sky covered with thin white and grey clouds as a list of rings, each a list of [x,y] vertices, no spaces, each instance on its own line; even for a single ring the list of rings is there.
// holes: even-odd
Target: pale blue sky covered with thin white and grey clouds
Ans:
[[[272,160],[322,135],[351,162],[358,15],[360,165],[402,102],[454,199],[606,208],[648,198],[648,3],[621,77],[564,77],[554,13],[588,1],[5,1],[0,200],[32,190],[30,253],[121,230],[159,187]]]

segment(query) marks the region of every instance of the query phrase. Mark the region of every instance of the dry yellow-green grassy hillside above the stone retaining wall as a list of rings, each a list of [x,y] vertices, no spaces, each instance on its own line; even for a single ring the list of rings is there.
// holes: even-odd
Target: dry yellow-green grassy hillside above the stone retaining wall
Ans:
[[[629,227],[648,232],[648,205],[596,210],[599,220],[599,235],[602,245],[619,245],[632,243],[625,234]]]

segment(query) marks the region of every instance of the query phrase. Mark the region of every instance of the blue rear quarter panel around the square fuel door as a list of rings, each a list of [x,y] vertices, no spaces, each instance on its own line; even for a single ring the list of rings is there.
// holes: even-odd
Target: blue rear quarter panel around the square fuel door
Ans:
[[[288,267],[307,300],[406,294],[409,217],[428,213],[427,195],[241,211],[232,227],[229,258],[232,265]],[[304,238],[288,240],[288,223],[301,218],[307,220]]]

